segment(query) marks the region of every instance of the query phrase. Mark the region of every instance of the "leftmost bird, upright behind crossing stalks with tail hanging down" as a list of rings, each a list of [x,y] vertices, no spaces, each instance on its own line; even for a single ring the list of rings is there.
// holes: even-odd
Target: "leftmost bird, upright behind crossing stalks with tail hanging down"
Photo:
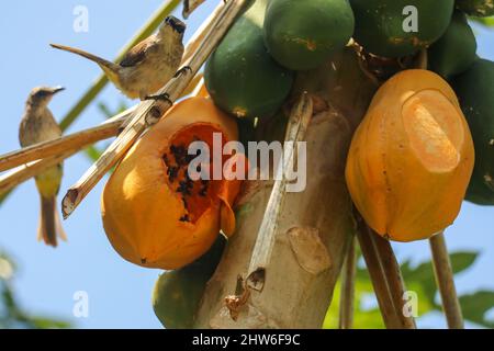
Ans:
[[[48,110],[52,98],[64,88],[34,88],[25,103],[24,115],[19,129],[19,140],[22,147],[55,139],[61,135],[61,129]],[[36,188],[41,197],[41,215],[38,224],[38,240],[56,247],[57,236],[67,240],[57,212],[56,197],[60,189],[63,165],[57,165],[35,177]]]

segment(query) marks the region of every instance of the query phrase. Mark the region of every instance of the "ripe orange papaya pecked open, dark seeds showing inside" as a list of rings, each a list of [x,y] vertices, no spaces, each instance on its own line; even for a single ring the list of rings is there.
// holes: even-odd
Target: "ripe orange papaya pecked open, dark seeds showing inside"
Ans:
[[[124,259],[147,268],[178,269],[203,254],[220,229],[233,234],[231,206],[242,181],[211,181],[202,195],[200,184],[193,183],[191,194],[184,194],[182,185],[191,183],[184,170],[170,171],[170,149],[177,140],[191,143],[195,134],[206,138],[213,131],[225,141],[238,138],[235,120],[210,99],[184,100],[131,148],[110,177],[101,201],[103,226]]]

